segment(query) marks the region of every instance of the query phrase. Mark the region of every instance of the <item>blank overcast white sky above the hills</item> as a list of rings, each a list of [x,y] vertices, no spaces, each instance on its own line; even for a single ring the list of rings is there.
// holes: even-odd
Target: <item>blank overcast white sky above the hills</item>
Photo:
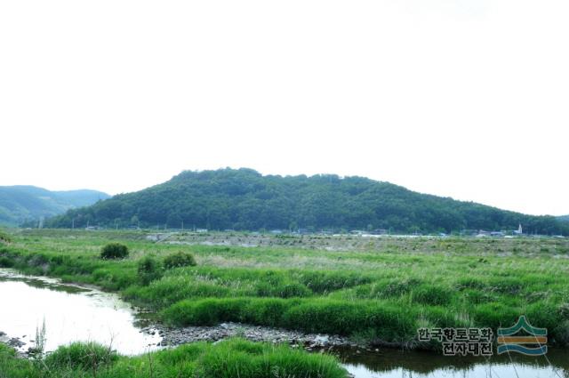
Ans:
[[[566,0],[0,2],[0,185],[362,175],[569,213]]]

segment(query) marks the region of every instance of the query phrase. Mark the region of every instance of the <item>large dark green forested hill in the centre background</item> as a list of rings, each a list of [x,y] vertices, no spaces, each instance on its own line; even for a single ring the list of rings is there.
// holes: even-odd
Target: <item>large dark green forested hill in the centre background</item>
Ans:
[[[263,176],[251,169],[183,172],[172,180],[53,218],[58,228],[391,229],[436,232],[517,229],[569,235],[552,216],[413,192],[362,177]]]

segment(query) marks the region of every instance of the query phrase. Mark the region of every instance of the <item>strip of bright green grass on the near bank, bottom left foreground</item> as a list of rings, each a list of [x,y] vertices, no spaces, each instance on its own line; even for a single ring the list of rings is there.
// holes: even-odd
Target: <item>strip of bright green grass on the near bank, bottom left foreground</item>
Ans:
[[[93,343],[60,347],[44,360],[16,358],[0,344],[0,378],[345,378],[336,358],[287,346],[232,339],[195,342],[138,357]]]

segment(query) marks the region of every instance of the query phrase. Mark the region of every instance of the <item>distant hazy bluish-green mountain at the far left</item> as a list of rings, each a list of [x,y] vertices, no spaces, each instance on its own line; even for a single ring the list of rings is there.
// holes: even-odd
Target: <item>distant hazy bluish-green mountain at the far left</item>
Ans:
[[[0,225],[17,226],[92,205],[108,194],[96,190],[50,191],[33,186],[0,187]]]

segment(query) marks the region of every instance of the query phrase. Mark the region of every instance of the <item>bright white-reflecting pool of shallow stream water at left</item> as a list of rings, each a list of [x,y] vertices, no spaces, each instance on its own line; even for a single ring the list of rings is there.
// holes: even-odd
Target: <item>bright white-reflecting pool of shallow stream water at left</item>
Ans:
[[[94,341],[135,355],[156,350],[160,342],[158,335],[140,333],[136,312],[116,294],[0,269],[0,331],[26,342],[20,350],[28,350],[44,321],[46,351],[69,342]]]

